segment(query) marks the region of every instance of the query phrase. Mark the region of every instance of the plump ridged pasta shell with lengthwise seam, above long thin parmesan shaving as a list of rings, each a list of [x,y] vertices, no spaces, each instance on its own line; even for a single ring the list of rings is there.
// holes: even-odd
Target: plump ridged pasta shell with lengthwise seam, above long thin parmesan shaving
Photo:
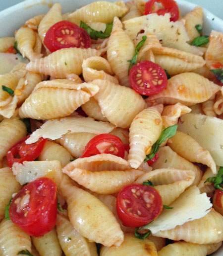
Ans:
[[[19,109],[19,116],[33,119],[53,119],[70,115],[99,90],[97,85],[76,84],[55,79],[36,85]]]

